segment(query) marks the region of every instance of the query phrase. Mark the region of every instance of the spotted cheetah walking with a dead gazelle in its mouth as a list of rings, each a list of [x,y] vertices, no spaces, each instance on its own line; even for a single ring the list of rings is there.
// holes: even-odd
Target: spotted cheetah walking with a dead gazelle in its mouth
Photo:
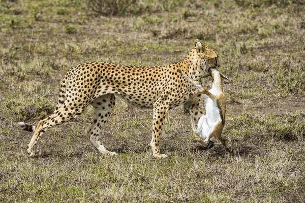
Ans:
[[[34,132],[27,153],[35,155],[37,142],[47,129],[77,118],[92,105],[93,121],[86,137],[99,152],[116,154],[102,145],[100,131],[114,109],[115,96],[120,96],[134,106],[153,108],[150,147],[155,158],[165,158],[167,155],[160,153],[159,141],[166,112],[184,105],[185,112],[191,111],[196,122],[203,115],[199,108],[200,95],[190,96],[196,87],[182,77],[178,69],[201,84],[202,76],[210,67],[219,66],[218,53],[198,39],[184,59],[168,65],[145,67],[106,62],[75,65],[60,84],[58,103],[52,115],[39,121],[37,126],[18,123],[21,129]]]

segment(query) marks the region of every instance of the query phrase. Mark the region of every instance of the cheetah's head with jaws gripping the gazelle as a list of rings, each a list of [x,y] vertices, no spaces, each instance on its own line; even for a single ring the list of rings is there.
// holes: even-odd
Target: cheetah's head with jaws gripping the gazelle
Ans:
[[[200,60],[200,69],[209,72],[210,68],[217,69],[220,67],[219,55],[215,49],[202,44],[200,40],[195,40],[197,58]]]

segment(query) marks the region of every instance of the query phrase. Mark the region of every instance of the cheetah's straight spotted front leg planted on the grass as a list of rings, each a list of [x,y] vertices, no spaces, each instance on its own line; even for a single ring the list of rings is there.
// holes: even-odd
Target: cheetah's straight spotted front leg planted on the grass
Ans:
[[[159,140],[166,111],[167,107],[159,107],[154,105],[153,135],[151,136],[150,147],[153,151],[153,156],[157,159],[167,157],[166,154],[160,154],[159,149]]]

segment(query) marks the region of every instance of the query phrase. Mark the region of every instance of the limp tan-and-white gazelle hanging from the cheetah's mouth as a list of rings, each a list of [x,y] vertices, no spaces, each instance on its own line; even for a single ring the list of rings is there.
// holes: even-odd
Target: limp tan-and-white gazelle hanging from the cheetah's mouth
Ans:
[[[209,74],[206,76],[210,75],[214,78],[214,83],[212,84],[212,88],[210,90],[202,88],[201,85],[188,78],[183,72],[180,72],[187,80],[192,82],[197,89],[199,89],[199,91],[191,92],[190,95],[205,95],[206,115],[203,115],[199,119],[197,129],[194,123],[193,114],[191,113],[192,128],[200,136],[195,138],[194,141],[201,144],[204,149],[208,149],[214,145],[214,141],[219,140],[221,144],[230,149],[231,145],[222,136],[226,116],[226,99],[223,93],[221,77],[226,79],[228,78],[220,73],[217,69],[211,68],[208,71]]]

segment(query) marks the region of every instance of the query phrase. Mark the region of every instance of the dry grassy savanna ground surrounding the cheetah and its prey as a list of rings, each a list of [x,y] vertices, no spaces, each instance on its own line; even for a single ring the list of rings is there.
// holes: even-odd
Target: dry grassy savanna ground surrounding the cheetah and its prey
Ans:
[[[0,3],[0,201],[304,202],[305,2],[134,2],[112,17],[75,0]],[[85,138],[88,108],[51,128],[27,157],[32,133],[16,123],[36,124],[53,111],[71,66],[167,64],[197,38],[219,52],[231,78],[224,134],[232,152],[198,150],[178,107],[161,137],[168,158],[154,160],[152,111],[117,99],[102,132],[117,156],[99,154]]]

